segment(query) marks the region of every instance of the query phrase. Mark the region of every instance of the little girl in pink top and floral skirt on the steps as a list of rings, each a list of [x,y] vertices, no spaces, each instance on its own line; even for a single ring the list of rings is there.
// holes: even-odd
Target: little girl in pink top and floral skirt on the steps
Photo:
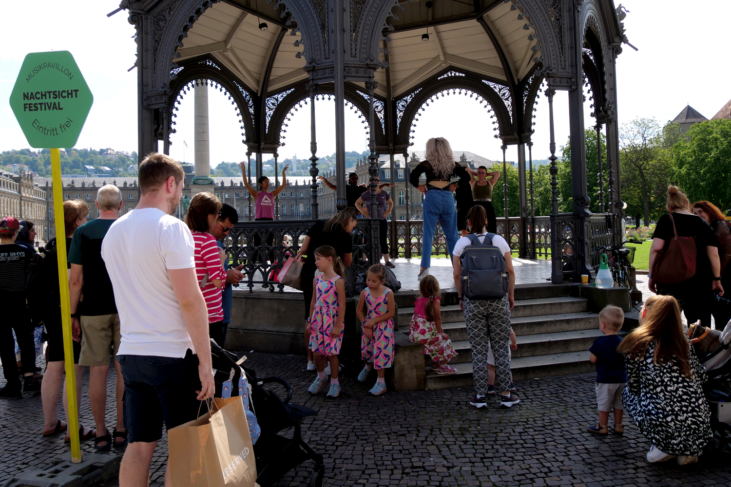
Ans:
[[[409,340],[424,345],[424,355],[431,357],[432,370],[441,375],[452,375],[457,369],[447,362],[457,356],[452,340],[442,330],[442,312],[439,281],[433,275],[419,283],[419,298],[414,303],[414,317],[409,326]]]

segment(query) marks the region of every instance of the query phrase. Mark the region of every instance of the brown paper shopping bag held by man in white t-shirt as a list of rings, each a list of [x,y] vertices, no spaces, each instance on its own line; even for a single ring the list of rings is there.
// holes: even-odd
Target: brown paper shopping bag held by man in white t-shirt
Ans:
[[[167,448],[175,487],[256,484],[254,447],[240,396],[216,397],[211,412],[170,429]]]

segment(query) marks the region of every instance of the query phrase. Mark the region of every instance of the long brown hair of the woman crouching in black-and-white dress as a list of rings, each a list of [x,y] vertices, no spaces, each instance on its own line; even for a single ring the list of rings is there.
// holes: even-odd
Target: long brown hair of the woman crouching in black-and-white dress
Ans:
[[[693,377],[690,367],[690,345],[683,333],[681,307],[673,296],[650,296],[645,301],[647,314],[642,324],[624,337],[617,351],[627,358],[642,360],[648,346],[655,342],[654,363],[662,367],[666,362],[681,369],[686,377]]]

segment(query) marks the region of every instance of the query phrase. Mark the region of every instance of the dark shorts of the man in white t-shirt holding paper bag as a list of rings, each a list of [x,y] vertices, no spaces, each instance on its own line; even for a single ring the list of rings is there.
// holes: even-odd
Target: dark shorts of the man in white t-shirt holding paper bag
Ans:
[[[198,356],[118,355],[124,377],[124,427],[129,442],[154,442],[167,430],[198,417]]]

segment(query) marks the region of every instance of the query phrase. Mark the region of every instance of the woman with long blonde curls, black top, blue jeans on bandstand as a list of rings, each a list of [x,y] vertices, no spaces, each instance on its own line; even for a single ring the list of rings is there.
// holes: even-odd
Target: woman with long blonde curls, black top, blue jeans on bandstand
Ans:
[[[452,258],[452,250],[457,243],[457,209],[455,207],[450,186],[452,177],[463,177],[465,172],[476,176],[469,167],[462,167],[452,156],[452,147],[444,137],[433,137],[426,141],[426,159],[414,167],[409,176],[409,183],[421,191],[424,196],[424,227],[421,242],[421,269],[419,279],[428,275],[431,266],[431,244],[434,240],[436,222],[442,224],[444,237],[447,239],[447,251]],[[420,184],[419,178],[426,175],[426,184]]]

